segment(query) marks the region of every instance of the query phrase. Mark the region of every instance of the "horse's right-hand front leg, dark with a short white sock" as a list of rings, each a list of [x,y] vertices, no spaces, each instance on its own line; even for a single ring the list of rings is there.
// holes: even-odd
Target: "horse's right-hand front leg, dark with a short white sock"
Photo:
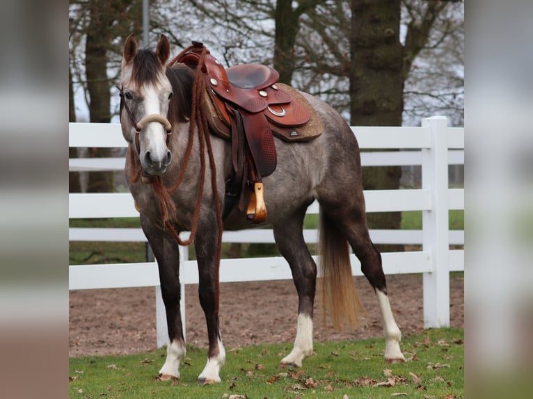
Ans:
[[[217,227],[216,223],[207,222],[204,226],[198,226],[194,247],[198,259],[198,296],[205,313],[209,350],[207,364],[198,376],[198,384],[214,384],[221,382],[220,370],[225,362],[225,350],[218,326]]]

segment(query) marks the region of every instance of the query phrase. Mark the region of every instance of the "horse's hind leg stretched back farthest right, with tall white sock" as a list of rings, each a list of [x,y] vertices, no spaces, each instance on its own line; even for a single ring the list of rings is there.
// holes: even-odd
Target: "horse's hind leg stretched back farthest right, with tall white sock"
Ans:
[[[330,193],[335,193],[335,190],[331,190]],[[334,223],[334,226],[330,227],[331,229],[339,227],[342,229],[361,263],[363,275],[367,277],[368,282],[374,288],[385,334],[385,360],[391,363],[404,361],[404,355],[399,347],[401,332],[390,308],[385,273],[381,265],[381,254],[370,241],[363,190],[348,193],[345,197],[342,193],[337,192],[335,199],[330,198],[331,202],[328,202],[324,197],[321,198],[321,205],[326,210],[324,221]]]

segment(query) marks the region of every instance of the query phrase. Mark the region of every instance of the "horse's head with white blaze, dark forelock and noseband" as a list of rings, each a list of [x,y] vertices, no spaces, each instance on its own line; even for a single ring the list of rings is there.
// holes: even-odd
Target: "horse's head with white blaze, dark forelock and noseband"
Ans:
[[[124,138],[134,146],[144,174],[166,172],[172,154],[168,108],[172,87],[165,74],[170,42],[161,35],[157,48],[139,50],[134,35],[124,45],[120,76],[120,122]]]

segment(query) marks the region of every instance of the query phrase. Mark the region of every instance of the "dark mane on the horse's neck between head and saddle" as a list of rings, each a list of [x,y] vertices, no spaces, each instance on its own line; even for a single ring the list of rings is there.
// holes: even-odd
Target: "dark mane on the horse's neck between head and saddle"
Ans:
[[[171,124],[189,122],[191,119],[194,72],[184,64],[166,68],[166,77],[172,86],[170,98]]]

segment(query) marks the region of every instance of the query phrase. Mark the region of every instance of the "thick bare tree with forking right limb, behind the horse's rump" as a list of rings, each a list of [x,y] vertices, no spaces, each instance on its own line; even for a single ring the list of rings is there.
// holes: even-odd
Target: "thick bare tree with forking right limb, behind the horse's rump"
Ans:
[[[404,115],[404,88],[413,63],[437,37],[433,47],[443,42],[450,30],[445,15],[450,1],[403,1],[408,22],[401,44],[401,0],[353,0],[351,9],[351,124],[365,126],[401,126]],[[441,24],[437,22],[441,20]],[[382,167],[363,170],[365,189],[397,189],[401,168]],[[399,229],[401,213],[368,215],[369,227]],[[401,250],[386,246],[382,250]]]

